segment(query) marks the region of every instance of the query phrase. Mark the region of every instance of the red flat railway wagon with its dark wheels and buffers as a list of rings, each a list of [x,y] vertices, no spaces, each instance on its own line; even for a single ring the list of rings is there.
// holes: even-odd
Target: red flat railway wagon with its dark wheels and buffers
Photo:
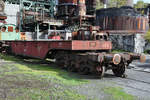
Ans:
[[[56,59],[56,63],[69,71],[81,74],[96,73],[103,77],[112,69],[119,77],[125,76],[126,67],[140,54],[104,53],[112,48],[110,41],[11,41],[12,53],[39,59]],[[97,52],[91,52],[97,51]]]

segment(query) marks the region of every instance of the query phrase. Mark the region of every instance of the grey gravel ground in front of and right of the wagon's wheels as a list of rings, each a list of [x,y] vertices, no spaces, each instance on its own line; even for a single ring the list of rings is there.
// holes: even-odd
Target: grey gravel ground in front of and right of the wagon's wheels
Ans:
[[[127,78],[115,77],[111,71],[108,71],[102,80],[94,76],[85,76],[86,78],[90,77],[88,80],[92,82],[88,85],[75,88],[81,94],[109,100],[111,97],[102,92],[101,88],[106,85],[112,87],[119,86],[122,87],[126,93],[137,97],[139,100],[150,100],[150,56],[147,56],[145,63],[135,61],[131,66],[134,67],[126,70]]]

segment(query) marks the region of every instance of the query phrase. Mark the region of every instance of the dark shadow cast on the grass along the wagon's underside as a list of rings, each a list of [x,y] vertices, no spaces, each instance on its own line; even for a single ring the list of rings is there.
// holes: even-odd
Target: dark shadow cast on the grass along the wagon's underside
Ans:
[[[9,58],[9,59],[8,59]],[[36,70],[36,71],[54,71],[57,72],[58,75],[66,80],[80,80],[80,79],[100,79],[99,76],[95,74],[89,75],[81,75],[77,72],[68,72],[66,69],[62,69],[58,67],[53,61],[47,60],[39,60],[39,59],[32,59],[22,56],[8,56],[6,60],[15,61],[21,65],[25,65],[26,67]],[[105,73],[104,78],[115,78],[113,74]]]

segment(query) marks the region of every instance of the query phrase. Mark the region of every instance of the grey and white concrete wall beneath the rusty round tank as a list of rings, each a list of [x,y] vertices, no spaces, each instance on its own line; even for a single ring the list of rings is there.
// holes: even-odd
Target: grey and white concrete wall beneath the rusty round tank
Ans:
[[[111,35],[113,49],[128,52],[143,53],[145,49],[145,39],[141,34],[136,35]]]

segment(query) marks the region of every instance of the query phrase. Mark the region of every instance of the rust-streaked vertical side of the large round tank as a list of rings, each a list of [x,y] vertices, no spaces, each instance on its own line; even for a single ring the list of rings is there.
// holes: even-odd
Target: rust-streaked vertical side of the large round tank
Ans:
[[[134,16],[97,16],[97,25],[102,27],[102,30],[122,30],[122,32],[135,30],[143,33],[148,30],[148,19]]]

